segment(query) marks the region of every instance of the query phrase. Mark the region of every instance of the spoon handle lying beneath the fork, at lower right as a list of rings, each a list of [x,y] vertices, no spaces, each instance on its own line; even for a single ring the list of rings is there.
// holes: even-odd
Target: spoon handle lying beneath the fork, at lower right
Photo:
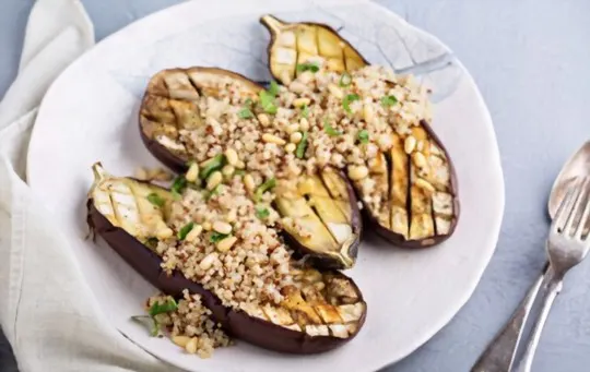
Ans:
[[[489,343],[480,359],[477,359],[471,372],[510,371],[522,331],[527,324],[527,319],[541,289],[541,285],[545,279],[546,268],[547,265],[545,265],[543,274],[533,283],[524,299],[522,299],[517,310],[512,313],[510,320],[504,325],[504,328],[502,328],[492,343]]]

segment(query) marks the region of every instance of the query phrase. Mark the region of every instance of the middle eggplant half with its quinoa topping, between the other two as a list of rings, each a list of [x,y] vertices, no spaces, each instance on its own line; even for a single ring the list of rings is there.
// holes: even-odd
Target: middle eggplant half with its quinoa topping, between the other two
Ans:
[[[283,233],[300,255],[322,268],[350,268],[362,233],[356,195],[331,167],[306,175],[285,160],[295,159],[306,140],[287,128],[295,124],[273,130],[272,112],[282,110],[274,103],[281,87],[274,89],[220,69],[163,71],[143,99],[142,137],[156,158],[192,181],[196,172],[203,183],[244,173],[251,197],[276,207]]]

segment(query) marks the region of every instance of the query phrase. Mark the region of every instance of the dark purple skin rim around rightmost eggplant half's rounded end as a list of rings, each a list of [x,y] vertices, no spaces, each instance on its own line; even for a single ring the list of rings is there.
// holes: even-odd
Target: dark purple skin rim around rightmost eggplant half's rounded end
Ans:
[[[428,136],[430,137],[430,141],[434,142],[440,149],[445,153],[447,156],[447,161],[449,164],[449,172],[450,172],[450,189],[453,195],[452,199],[452,211],[453,211],[453,218],[450,224],[450,230],[446,235],[437,235],[430,238],[426,239],[418,239],[418,240],[408,240],[402,235],[391,231],[390,229],[381,226],[378,223],[378,219],[370,213],[369,208],[364,207],[363,208],[363,219],[365,220],[365,224],[369,226],[375,232],[384,238],[385,240],[393,243],[394,245],[399,248],[410,248],[410,249],[420,249],[420,248],[430,248],[438,245],[449,239],[457,228],[457,224],[459,223],[459,216],[461,214],[461,205],[459,202],[459,187],[457,182],[457,172],[455,170],[455,166],[452,164],[452,159],[449,156],[449,152],[442,144],[442,142],[438,139],[436,133],[433,131],[432,127],[428,124],[426,120],[421,120],[421,124],[428,133]],[[358,199],[362,200],[361,195],[358,195]]]

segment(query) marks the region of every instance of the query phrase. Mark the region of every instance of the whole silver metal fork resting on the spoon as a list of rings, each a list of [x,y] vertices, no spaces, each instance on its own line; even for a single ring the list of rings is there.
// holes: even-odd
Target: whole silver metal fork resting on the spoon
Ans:
[[[579,264],[590,249],[588,223],[590,215],[590,179],[585,177],[575,182],[562,201],[553,223],[546,248],[550,261],[546,296],[531,338],[515,372],[530,372],[534,352],[547,320],[551,307],[563,287],[566,273]]]

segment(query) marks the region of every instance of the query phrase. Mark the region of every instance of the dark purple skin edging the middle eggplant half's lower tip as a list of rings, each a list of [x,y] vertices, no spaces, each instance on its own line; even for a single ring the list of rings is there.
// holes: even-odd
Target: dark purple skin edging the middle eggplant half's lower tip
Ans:
[[[333,167],[332,169],[335,170],[335,172],[342,178],[342,180],[346,184],[346,192],[349,194],[349,201],[352,211],[351,226],[353,232],[356,235],[356,239],[351,244],[349,253],[351,257],[356,261],[356,257],[358,255],[358,245],[363,240],[364,233],[363,215],[361,214],[361,209],[358,208],[358,201],[356,199],[356,193],[353,185],[351,184],[351,181],[342,170],[335,169]],[[330,255],[321,254],[308,249],[307,247],[303,245],[295,237],[284,230],[281,231],[281,236],[283,237],[283,240],[285,241],[285,243],[287,243],[288,247],[295,249],[296,256],[300,260],[304,260],[305,262],[308,262],[312,267],[323,271],[351,268],[344,267],[340,261],[335,261]]]

